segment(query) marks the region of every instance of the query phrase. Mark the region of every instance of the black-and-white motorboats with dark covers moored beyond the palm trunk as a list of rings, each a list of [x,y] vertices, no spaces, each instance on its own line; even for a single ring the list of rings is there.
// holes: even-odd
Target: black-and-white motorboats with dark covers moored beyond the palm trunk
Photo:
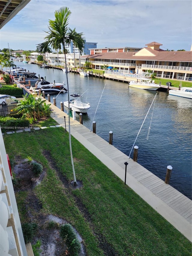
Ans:
[[[41,77],[40,81],[37,81],[35,83],[35,86],[30,87],[30,90],[37,93],[39,92],[39,89],[41,90],[41,92],[44,91],[48,94],[67,92],[64,83],[49,83],[45,81],[43,77]]]

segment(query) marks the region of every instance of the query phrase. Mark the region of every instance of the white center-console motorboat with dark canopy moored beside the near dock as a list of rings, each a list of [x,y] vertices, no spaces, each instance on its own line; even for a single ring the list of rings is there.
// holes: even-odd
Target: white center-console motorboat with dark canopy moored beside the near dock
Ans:
[[[71,108],[71,110],[79,112],[79,113],[87,113],[87,110],[91,107],[89,103],[84,103],[81,101],[81,95],[79,94],[71,94],[70,97],[73,99],[68,101],[64,101],[63,104],[67,108]]]

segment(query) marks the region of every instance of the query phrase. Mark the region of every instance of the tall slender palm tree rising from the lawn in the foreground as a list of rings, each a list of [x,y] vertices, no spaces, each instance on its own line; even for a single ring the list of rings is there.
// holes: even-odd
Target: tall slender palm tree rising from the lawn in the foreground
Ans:
[[[46,32],[48,35],[44,38],[46,41],[44,43],[38,44],[37,49],[41,51],[44,46],[52,46],[53,49],[61,49],[63,47],[63,52],[65,56],[65,68],[67,70],[67,60],[66,60],[66,49],[65,45],[70,45],[73,41],[78,46],[80,52],[83,52],[84,40],[82,38],[82,33],[76,33],[74,30],[68,27],[69,17],[71,12],[68,7],[61,7],[58,11],[55,11],[55,20],[49,20],[49,31]],[[67,79],[67,90],[68,90],[68,106],[69,106],[69,83],[68,76],[66,72]],[[70,146],[70,157],[73,169],[74,185],[76,185],[75,169],[73,164],[73,154],[71,148],[71,133],[70,133],[70,115],[69,116],[69,146]]]

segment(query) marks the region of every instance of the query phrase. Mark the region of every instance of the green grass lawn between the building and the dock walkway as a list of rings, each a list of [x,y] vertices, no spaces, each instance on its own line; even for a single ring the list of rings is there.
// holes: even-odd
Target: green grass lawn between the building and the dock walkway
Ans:
[[[49,126],[52,119],[42,122]],[[103,241],[118,256],[190,256],[191,243],[169,222],[143,201],[73,137],[72,150],[76,179],[83,186],[72,190],[63,186],[46,158],[45,151],[68,181],[73,181],[69,137],[62,127],[34,132],[4,134],[11,160],[31,156],[46,169],[46,176],[35,187],[42,213],[56,215],[72,224],[82,236],[87,255],[105,255]],[[21,221],[25,221],[24,192],[16,200]],[[88,218],[78,208],[81,202]]]

